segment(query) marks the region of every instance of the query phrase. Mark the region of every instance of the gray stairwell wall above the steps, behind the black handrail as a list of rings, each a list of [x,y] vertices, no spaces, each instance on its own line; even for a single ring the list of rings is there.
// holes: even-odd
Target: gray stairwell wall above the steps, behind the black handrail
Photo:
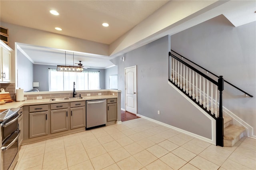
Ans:
[[[256,134],[256,22],[234,27],[223,15],[171,36],[172,49],[226,81],[223,106]]]

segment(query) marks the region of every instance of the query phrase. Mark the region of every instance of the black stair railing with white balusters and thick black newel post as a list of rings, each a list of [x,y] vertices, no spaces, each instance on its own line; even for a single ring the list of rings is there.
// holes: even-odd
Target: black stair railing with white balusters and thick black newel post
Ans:
[[[169,52],[171,57],[170,79],[180,91],[187,95],[194,103],[216,120],[216,145],[223,146],[224,119],[222,114],[222,91],[224,79],[217,76],[214,80],[199,69],[186,63],[179,57]],[[209,72],[209,71],[208,71]],[[199,87],[198,87],[199,84]],[[182,86],[183,85],[183,86]],[[202,88],[203,87],[203,88]],[[214,88],[215,87],[215,88]],[[210,89],[210,92],[209,92]],[[219,95],[217,95],[217,90]],[[214,94],[215,92],[215,94]],[[217,100],[219,98],[219,109]]]

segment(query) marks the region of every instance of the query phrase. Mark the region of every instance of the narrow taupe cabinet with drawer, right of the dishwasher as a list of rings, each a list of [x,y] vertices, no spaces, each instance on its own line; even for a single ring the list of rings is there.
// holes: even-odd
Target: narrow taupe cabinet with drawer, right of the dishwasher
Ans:
[[[116,99],[107,100],[107,122],[116,121],[117,119],[117,105]]]

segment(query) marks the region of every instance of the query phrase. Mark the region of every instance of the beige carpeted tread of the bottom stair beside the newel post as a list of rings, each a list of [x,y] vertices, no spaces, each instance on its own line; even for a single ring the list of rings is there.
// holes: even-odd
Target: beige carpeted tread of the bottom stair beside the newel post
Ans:
[[[237,138],[237,136],[240,136],[244,130],[244,127],[229,125],[228,127],[224,128],[224,140],[234,140]]]

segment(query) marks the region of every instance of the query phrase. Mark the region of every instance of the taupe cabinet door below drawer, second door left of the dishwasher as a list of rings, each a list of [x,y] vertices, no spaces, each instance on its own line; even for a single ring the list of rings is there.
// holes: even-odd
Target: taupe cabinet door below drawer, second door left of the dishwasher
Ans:
[[[51,111],[51,133],[68,130],[68,109]]]

